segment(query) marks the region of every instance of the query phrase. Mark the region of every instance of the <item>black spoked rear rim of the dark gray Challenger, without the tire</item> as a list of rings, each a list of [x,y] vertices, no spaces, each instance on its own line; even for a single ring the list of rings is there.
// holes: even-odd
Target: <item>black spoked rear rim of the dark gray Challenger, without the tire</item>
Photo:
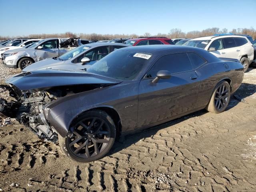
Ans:
[[[214,96],[214,104],[217,110],[222,110],[228,105],[229,89],[225,84],[218,86]]]

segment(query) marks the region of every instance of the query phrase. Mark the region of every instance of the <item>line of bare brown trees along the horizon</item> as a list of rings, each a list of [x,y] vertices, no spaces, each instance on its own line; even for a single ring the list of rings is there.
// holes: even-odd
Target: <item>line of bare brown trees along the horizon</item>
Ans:
[[[222,33],[234,33],[234,34],[246,34],[252,36],[253,39],[256,39],[256,30],[254,28],[237,28],[231,31],[224,28],[220,30],[220,28],[213,27],[208,28],[202,31],[190,31],[190,32],[182,32],[181,29],[171,29],[167,34],[158,33],[158,34],[150,34],[149,32],[145,32],[143,35],[137,34],[86,34],[86,33],[55,33],[55,34],[30,34],[28,36],[0,36],[0,40],[14,39],[14,38],[68,38],[68,37],[80,37],[82,39],[87,40],[111,40],[113,38],[138,38],[140,36],[149,37],[149,36],[161,36],[168,38],[197,38],[202,36],[211,36],[213,34],[222,34]]]

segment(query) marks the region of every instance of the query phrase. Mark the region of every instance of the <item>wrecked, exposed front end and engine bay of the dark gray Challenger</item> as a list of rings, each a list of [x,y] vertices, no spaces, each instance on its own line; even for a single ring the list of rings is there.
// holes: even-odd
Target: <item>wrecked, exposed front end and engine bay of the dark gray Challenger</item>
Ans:
[[[58,141],[58,133],[48,123],[44,116],[43,108],[45,104],[57,98],[76,94],[102,87],[100,84],[94,85],[73,85],[49,88],[46,90],[25,90],[21,91],[16,86],[0,85],[1,92],[9,92],[13,98],[10,101],[0,98],[0,118],[16,118],[18,122],[30,128],[38,135],[38,138]]]

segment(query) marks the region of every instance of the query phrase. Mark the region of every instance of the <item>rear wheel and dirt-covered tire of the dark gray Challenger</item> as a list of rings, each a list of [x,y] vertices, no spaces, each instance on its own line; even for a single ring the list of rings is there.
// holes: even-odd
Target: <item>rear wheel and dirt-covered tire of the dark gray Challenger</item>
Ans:
[[[206,106],[206,110],[212,113],[223,112],[230,101],[230,85],[226,81],[221,81],[217,84],[210,102]]]

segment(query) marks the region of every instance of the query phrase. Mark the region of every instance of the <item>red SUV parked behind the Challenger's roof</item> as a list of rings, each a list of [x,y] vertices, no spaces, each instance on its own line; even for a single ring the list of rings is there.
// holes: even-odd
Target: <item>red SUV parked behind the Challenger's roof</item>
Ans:
[[[140,45],[174,45],[172,39],[167,37],[139,37],[135,39],[129,39],[124,42],[125,44],[132,46],[140,46]]]

